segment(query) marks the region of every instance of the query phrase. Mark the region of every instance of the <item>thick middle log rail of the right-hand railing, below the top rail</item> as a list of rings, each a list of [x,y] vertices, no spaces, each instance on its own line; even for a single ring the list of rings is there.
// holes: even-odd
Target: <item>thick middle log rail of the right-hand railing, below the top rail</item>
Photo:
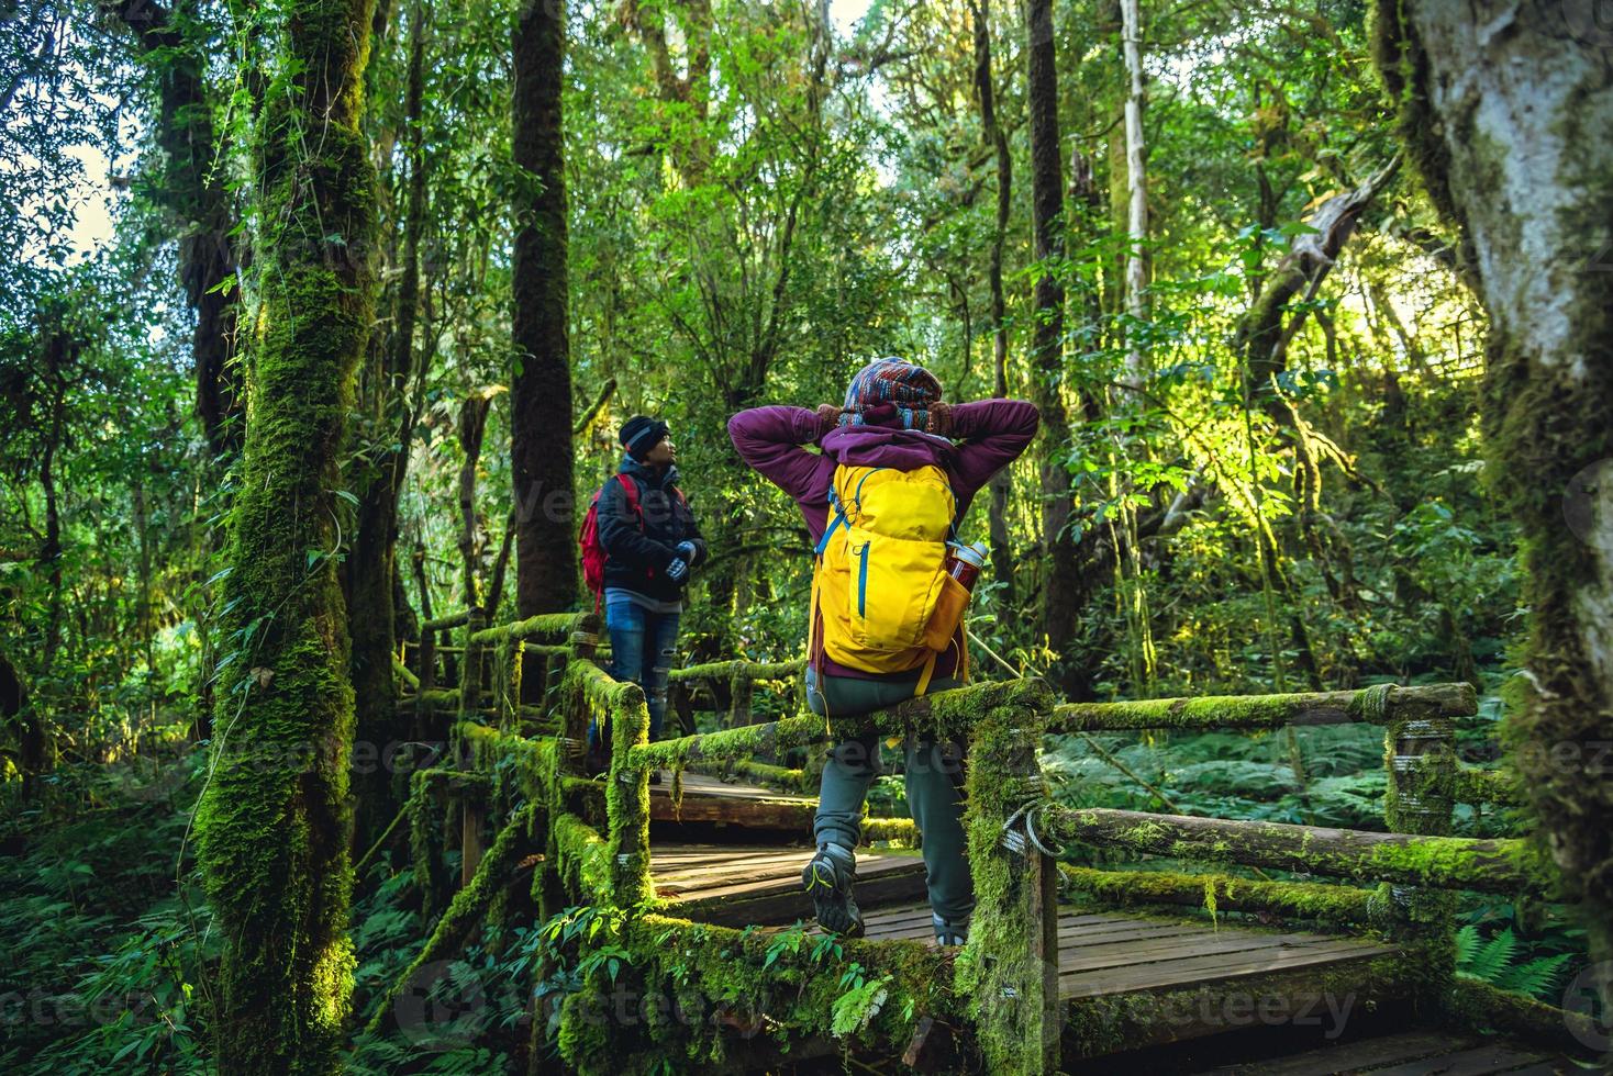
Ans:
[[[1036,825],[1052,841],[1361,881],[1503,894],[1544,894],[1553,884],[1544,854],[1521,839],[1424,838],[1052,804],[1037,812]]]

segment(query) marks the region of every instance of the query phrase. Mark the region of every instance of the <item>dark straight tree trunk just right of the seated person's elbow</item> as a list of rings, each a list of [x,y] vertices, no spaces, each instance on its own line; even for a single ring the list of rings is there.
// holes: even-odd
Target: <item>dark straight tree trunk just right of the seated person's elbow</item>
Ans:
[[[1031,332],[1031,398],[1042,412],[1036,456],[1042,478],[1042,607],[1039,633],[1063,656],[1076,635],[1076,543],[1069,536],[1069,470],[1065,446],[1065,288],[1053,264],[1065,253],[1063,161],[1058,137],[1058,69],[1052,0],[1026,0],[1026,85],[1031,118],[1031,217],[1034,251],[1044,263],[1036,279],[1036,324]],[[1058,673],[1063,685],[1068,670]]]

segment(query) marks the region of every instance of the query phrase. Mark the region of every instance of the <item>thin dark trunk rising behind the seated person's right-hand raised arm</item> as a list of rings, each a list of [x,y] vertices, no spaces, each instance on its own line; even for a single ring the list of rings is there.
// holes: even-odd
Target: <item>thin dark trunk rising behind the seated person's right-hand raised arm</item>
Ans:
[[[1013,156],[1008,135],[997,122],[997,84],[992,81],[992,8],[990,0],[969,0],[974,19],[974,97],[981,105],[981,135],[997,156],[997,224],[992,230],[990,261],[986,279],[992,288],[992,395],[1008,395],[1008,303],[1003,298],[1003,242],[1008,235],[1008,209],[1013,206]],[[992,478],[992,570],[1003,583],[1003,606],[1016,609],[1013,546],[1008,540],[1008,495],[1013,478],[1002,469]]]

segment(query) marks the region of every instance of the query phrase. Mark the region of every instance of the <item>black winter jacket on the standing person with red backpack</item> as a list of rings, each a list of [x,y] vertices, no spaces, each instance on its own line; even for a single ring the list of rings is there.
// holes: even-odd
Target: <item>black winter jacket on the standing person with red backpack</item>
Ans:
[[[639,490],[639,509],[627,504],[627,493],[618,478],[608,478],[600,490],[598,530],[605,548],[605,586],[631,590],[655,601],[677,601],[684,583],[666,578],[666,565],[677,559],[677,543],[692,541],[695,559],[706,556],[705,538],[694,512],[676,493],[677,467],[656,474],[632,456],[624,456],[616,474],[627,475]]]

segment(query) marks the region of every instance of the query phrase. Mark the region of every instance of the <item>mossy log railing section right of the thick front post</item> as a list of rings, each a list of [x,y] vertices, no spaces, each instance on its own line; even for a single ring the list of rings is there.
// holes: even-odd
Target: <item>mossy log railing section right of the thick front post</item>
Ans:
[[[1521,995],[1484,1005],[1455,979],[1452,891],[1476,889],[1516,897],[1550,897],[1553,871],[1528,841],[1484,841],[1450,836],[1453,807],[1513,805],[1521,789],[1511,775],[1463,765],[1457,757],[1455,722],[1478,712],[1468,685],[1376,685],[1360,691],[1273,696],[1150,699],[1137,702],[1061,704],[1048,731],[1142,730],[1276,730],[1284,726],[1366,723],[1384,730],[1384,821],[1387,833],[1329,830],[1263,821],[1231,821],[1145,812],[1069,809],[1045,804],[1031,812],[1039,839],[1087,844],[1137,857],[1207,863],[1216,868],[1266,868],[1300,879],[1252,879],[1232,873],[1155,873],[1061,867],[1068,891],[1121,905],[1197,905],[1218,912],[1252,912],[1310,920],[1332,929],[1369,929],[1402,947],[1394,965],[1397,989],[1429,1016],[1466,1023],[1510,1021],[1528,1008],[1536,1029],[1544,1008]],[[1324,884],[1311,876],[1355,884]],[[1478,1020],[1478,1008],[1484,1018]],[[1090,1010],[1090,1012],[1087,1012]],[[1511,1015],[1508,1015],[1511,1013]],[[1073,1005],[1071,1020],[1103,1026],[1102,1041],[1077,1049],[1115,1049],[1116,1029],[1144,1021],[1089,999]],[[1561,1013],[1558,1013],[1561,1015]],[[1561,1020],[1555,1028],[1566,1026]]]

